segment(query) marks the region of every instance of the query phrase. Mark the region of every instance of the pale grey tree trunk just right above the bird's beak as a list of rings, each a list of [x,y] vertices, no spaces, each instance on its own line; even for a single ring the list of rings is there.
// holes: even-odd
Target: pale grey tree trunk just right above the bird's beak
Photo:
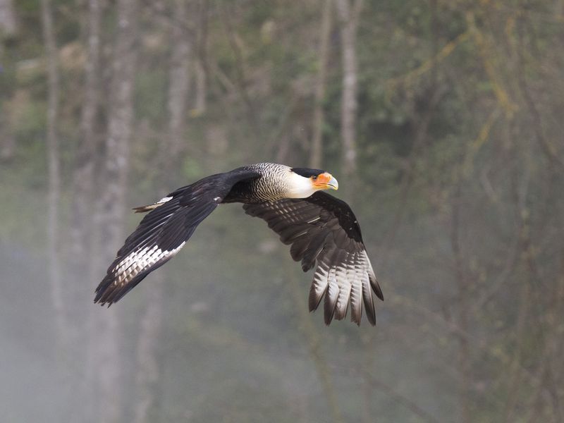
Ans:
[[[336,0],[341,20],[341,49],[343,51],[343,99],[341,100],[341,137],[343,138],[343,175],[349,178],[357,168],[357,51],[358,16],[362,0]]]

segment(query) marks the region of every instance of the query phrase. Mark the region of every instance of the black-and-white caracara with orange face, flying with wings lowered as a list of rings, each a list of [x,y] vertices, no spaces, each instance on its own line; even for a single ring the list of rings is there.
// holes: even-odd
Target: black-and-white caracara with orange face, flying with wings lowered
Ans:
[[[347,203],[323,192],[338,188],[330,173],[311,168],[259,163],[207,176],[171,192],[154,204],[125,240],[94,302],[108,306],[120,300],[145,276],[174,257],[196,227],[219,204],[243,203],[245,213],[264,219],[303,271],[315,269],[309,311],[324,300],[324,319],[350,319],[360,325],[362,307],[374,326],[374,297],[384,300],[360,226]]]

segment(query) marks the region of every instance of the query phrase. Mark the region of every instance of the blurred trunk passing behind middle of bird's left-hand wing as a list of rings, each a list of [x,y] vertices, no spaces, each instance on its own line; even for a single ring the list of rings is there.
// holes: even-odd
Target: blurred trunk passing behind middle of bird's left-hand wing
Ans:
[[[180,22],[188,18],[188,0],[175,1],[175,16]],[[171,63],[168,85],[168,142],[159,149],[158,168],[161,191],[168,192],[173,183],[171,174],[175,174],[180,165],[180,153],[183,151],[185,119],[188,111],[190,90],[190,56],[192,38],[185,25],[176,25],[171,34]],[[141,319],[139,341],[137,343],[137,404],[135,422],[149,422],[149,412],[155,403],[155,388],[159,380],[159,333],[163,319],[163,286],[166,271],[161,269],[152,276],[152,288],[147,291],[147,307]]]

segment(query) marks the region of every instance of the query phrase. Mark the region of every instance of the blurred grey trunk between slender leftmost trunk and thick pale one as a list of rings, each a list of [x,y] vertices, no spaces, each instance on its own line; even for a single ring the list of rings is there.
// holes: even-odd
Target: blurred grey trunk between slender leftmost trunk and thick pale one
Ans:
[[[69,256],[72,257],[70,270],[73,277],[84,278],[94,284],[99,277],[100,269],[104,269],[104,263],[100,260],[100,253],[97,248],[95,234],[101,228],[99,215],[95,212],[96,203],[96,181],[94,170],[97,164],[98,151],[101,147],[99,136],[97,135],[96,116],[99,111],[100,94],[100,23],[102,18],[102,8],[99,0],[88,0],[88,13],[85,19],[85,33],[87,34],[87,57],[85,63],[85,85],[84,101],[82,102],[82,114],[80,116],[80,144],[78,145],[77,161],[73,177],[73,202],[71,216],[71,250]],[[92,288],[94,288],[92,286]],[[90,300],[92,289],[76,290],[73,297],[69,298],[71,304],[76,303],[82,309],[85,300]],[[85,298],[86,297],[86,298]],[[73,310],[71,309],[71,312]],[[82,380],[82,395],[87,403],[80,406],[78,415],[83,421],[89,421],[89,416],[95,415],[96,407],[96,369],[94,352],[97,348],[96,333],[97,314],[99,309],[91,307],[87,314],[87,321],[78,322],[80,325],[79,333],[85,333],[84,338],[76,339],[85,348],[80,350],[80,354],[85,355],[86,365],[84,378]],[[74,314],[71,314],[74,315]],[[77,315],[82,315],[82,313]],[[82,329],[82,330],[80,330]],[[90,342],[89,342],[90,341]]]

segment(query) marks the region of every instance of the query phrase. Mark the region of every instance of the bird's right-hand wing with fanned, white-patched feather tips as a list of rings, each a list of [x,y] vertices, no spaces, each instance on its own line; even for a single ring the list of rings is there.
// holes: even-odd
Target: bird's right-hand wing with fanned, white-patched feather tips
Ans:
[[[360,324],[362,302],[370,324],[376,324],[372,292],[384,300],[367,252],[360,226],[348,204],[326,192],[308,198],[244,204],[243,209],[268,223],[290,247],[290,255],[302,269],[317,261],[309,290],[309,311],[317,309],[325,296],[325,323],[341,320],[350,304],[350,319]]]

